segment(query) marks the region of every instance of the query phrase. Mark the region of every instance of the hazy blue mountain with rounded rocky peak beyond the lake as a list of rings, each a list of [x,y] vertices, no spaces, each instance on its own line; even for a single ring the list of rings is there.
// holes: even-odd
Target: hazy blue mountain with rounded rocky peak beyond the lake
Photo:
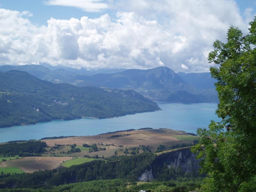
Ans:
[[[157,67],[153,69],[128,69],[120,73],[96,74],[93,76],[81,77],[79,86],[88,84],[100,84],[106,87],[115,88],[143,88],[143,89],[189,89],[190,85],[185,82],[172,69]]]

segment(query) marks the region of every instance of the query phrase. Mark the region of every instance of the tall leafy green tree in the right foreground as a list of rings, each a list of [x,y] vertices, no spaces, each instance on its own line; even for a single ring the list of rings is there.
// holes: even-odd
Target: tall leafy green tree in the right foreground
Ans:
[[[192,149],[203,159],[201,172],[210,176],[204,191],[253,191],[256,183],[256,17],[249,24],[245,36],[231,26],[227,43],[216,40],[209,53],[222,120],[198,129],[199,143]]]

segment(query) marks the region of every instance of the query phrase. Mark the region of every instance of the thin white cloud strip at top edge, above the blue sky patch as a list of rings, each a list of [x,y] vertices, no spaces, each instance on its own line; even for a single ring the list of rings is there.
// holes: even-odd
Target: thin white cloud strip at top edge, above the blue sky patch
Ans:
[[[44,4],[76,7],[86,12],[101,12],[108,9],[108,4],[102,2],[103,0],[46,0]]]

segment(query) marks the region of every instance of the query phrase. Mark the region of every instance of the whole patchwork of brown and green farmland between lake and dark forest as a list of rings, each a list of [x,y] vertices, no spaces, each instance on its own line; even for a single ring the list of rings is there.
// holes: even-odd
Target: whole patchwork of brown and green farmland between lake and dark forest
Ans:
[[[85,156],[99,156],[110,157],[113,155],[121,156],[145,152],[155,152],[159,145],[164,145],[166,149],[162,153],[171,152],[181,149],[185,146],[193,145],[193,141],[197,140],[197,136],[188,135],[183,131],[175,131],[172,129],[144,129],[134,131],[122,131],[116,133],[100,134],[94,136],[78,136],[62,139],[43,140],[48,145],[46,152],[42,157],[24,157],[16,159],[15,157],[8,157],[12,160],[0,162],[0,167],[17,167],[24,172],[35,172],[38,170],[54,169],[59,165],[69,167],[75,164],[82,164],[84,162],[95,160],[93,158],[85,158]],[[83,147],[86,143],[88,145],[96,144],[98,151],[89,152],[89,147]],[[79,148],[81,152],[70,153],[71,146],[76,144],[75,148]],[[101,148],[101,149],[100,149]],[[103,150],[105,148],[105,150]],[[78,157],[72,159],[73,157]],[[72,160],[71,160],[72,159]],[[1,157],[0,157],[0,160]],[[64,161],[64,162],[63,162]]]

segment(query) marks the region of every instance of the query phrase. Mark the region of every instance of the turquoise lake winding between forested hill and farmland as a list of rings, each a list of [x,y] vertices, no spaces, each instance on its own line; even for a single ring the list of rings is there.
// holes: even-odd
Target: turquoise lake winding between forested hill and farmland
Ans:
[[[105,132],[143,127],[169,128],[196,133],[198,127],[208,127],[215,115],[217,103],[157,103],[162,111],[138,113],[118,118],[83,118],[70,121],[54,120],[35,125],[0,128],[0,142],[41,139],[53,136],[97,135]]]

